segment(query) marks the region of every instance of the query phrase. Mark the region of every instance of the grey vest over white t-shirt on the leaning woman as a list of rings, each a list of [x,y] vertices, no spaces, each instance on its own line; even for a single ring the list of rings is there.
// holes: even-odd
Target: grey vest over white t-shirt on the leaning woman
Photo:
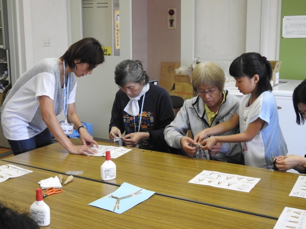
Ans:
[[[68,104],[75,102],[76,77],[69,79]],[[4,136],[10,140],[29,139],[44,131],[39,96],[48,96],[54,114],[64,109],[64,89],[61,88],[57,58],[44,59],[25,72],[14,84],[2,106],[1,124]]]

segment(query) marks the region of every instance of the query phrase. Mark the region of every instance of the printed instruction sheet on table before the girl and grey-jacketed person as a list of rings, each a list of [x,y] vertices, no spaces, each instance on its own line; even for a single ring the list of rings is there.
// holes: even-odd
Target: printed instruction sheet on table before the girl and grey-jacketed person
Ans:
[[[188,183],[203,184],[217,188],[225,188],[249,193],[260,178],[244,177],[234,174],[203,170]]]

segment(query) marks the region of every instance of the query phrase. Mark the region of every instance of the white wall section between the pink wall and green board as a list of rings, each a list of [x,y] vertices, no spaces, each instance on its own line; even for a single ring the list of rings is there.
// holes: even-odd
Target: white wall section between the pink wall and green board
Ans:
[[[227,74],[243,52],[278,60],[280,0],[181,1],[181,65],[199,57],[218,63]]]

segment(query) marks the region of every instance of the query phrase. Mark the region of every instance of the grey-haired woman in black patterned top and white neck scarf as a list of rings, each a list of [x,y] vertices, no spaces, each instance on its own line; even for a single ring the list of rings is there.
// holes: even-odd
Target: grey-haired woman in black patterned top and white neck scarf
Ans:
[[[114,132],[123,145],[160,152],[172,152],[164,139],[164,129],[174,119],[168,92],[152,83],[140,61],[125,60],[115,69],[119,91],[112,108],[109,138]],[[174,149],[173,149],[174,150]]]

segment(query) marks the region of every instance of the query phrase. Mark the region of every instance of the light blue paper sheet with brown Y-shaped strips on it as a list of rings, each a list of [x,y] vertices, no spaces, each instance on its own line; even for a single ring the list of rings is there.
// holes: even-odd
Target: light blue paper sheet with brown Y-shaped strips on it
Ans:
[[[148,199],[150,196],[152,196],[155,192],[152,191],[148,191],[145,189],[141,189],[141,193],[139,192],[139,194],[137,195],[133,195],[131,197],[127,197],[124,199],[120,199],[119,202],[119,209],[116,207],[115,211],[114,211],[114,207],[116,205],[117,199],[110,197],[110,196],[117,196],[119,198],[123,197],[123,196],[128,196],[131,194],[136,193],[137,191],[139,191],[141,188],[134,186],[132,184],[129,183],[123,183],[115,192],[102,197],[101,199],[98,199],[88,205],[91,206],[95,206],[98,208],[102,208],[114,213],[124,213],[125,211],[133,208],[134,206],[136,206],[137,204],[145,201],[146,199]]]

